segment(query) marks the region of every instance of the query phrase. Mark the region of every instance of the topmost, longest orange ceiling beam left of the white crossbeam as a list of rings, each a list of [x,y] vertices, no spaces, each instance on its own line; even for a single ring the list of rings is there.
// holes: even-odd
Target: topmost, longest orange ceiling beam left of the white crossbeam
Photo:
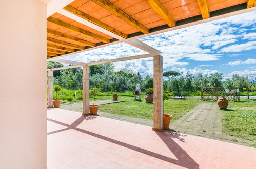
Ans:
[[[58,20],[54,17],[48,17],[47,18],[47,21],[50,23],[50,24],[53,24],[53,25],[56,25],[58,27],[61,27],[61,28],[64,28],[64,29],[67,29],[69,31],[72,31],[72,32],[76,32],[76,33],[79,33],[79,34],[83,34],[85,36],[88,36],[88,37],[91,37],[91,38],[94,38],[94,39],[97,39],[97,40],[100,40],[102,41],[103,43],[109,43],[110,40],[106,37],[103,37],[103,36],[100,36],[100,35],[97,35],[95,33],[92,33],[92,32],[89,32],[85,29],[82,29],[82,28],[78,28],[74,25],[71,25],[71,24],[68,24],[68,23],[65,23],[63,22],[62,20]]]

